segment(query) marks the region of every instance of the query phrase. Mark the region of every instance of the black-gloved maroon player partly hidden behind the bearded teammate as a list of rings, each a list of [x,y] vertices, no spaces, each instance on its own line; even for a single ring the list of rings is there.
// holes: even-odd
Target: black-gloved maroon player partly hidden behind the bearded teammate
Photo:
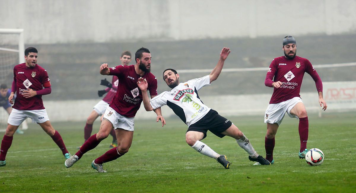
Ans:
[[[120,61],[122,65],[129,65],[131,61],[131,53],[129,51],[125,51],[121,53]],[[91,111],[89,117],[87,118],[87,123],[84,127],[84,142],[87,141],[91,135],[91,131],[93,130],[93,123],[101,115],[104,115],[106,107],[109,106],[108,103],[111,102],[112,98],[114,98],[117,91],[117,84],[119,80],[117,80],[117,76],[112,76],[111,83],[106,79],[101,80],[100,85],[107,86],[105,90],[99,90],[98,95],[102,97],[105,93],[108,93],[103,100],[99,101],[95,104],[93,111]],[[115,148],[117,146],[116,134],[115,130],[111,130],[110,135],[112,135],[112,143],[109,148]],[[80,148],[80,147],[79,147]]]

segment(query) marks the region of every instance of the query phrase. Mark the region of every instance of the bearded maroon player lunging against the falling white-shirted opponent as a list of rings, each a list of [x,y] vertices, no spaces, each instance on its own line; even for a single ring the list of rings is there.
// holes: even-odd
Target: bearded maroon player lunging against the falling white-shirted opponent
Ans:
[[[98,172],[106,172],[103,169],[103,163],[116,160],[129,151],[133,138],[133,118],[142,102],[142,92],[136,84],[138,78],[143,77],[147,80],[151,98],[157,95],[157,79],[150,72],[150,51],[147,48],[138,49],[135,53],[135,60],[136,64],[130,66],[119,65],[112,68],[109,68],[108,64],[100,66],[100,74],[117,76],[119,80],[117,90],[119,92],[116,92],[111,104],[106,108],[99,132],[90,136],[79,151],[64,162],[67,168],[77,162],[83,154],[94,149],[101,140],[107,138],[112,129],[115,129],[117,147],[110,149],[93,160],[91,167]],[[157,108],[155,112],[157,114],[157,122],[161,120],[163,127],[166,122],[161,114],[161,109]]]

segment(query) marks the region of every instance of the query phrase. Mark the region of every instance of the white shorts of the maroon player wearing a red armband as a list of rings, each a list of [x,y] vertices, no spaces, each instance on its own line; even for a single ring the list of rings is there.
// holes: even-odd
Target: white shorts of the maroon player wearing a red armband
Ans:
[[[44,123],[49,120],[46,109],[18,110],[12,108],[7,123],[19,126],[27,117],[31,118],[33,123]]]

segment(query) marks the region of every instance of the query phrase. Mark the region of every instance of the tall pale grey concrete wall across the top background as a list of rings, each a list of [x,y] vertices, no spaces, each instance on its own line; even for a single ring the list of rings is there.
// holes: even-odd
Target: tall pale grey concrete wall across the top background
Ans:
[[[356,33],[356,0],[1,0],[25,43]]]

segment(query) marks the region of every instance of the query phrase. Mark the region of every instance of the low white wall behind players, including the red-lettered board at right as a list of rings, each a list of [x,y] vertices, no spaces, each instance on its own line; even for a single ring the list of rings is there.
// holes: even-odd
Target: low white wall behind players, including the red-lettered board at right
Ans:
[[[355,85],[356,82],[353,84]],[[334,84],[335,85],[335,84]],[[342,84],[345,87],[345,84]],[[351,85],[351,86],[354,86]],[[356,110],[356,88],[347,87],[344,93],[338,92],[336,97],[335,86],[328,86],[325,84],[324,97],[327,99],[328,109],[327,113],[336,113],[340,111],[355,111]],[[342,87],[343,88],[343,87]],[[354,88],[354,89],[352,89]],[[331,89],[331,91],[330,91]],[[340,90],[340,89],[339,89]],[[342,89],[341,89],[342,90]],[[345,90],[345,89],[344,89]],[[338,91],[338,90],[337,90]],[[322,113],[318,102],[318,93],[306,92],[301,93],[300,96],[307,108],[308,113]],[[347,97],[347,98],[345,98]],[[351,99],[350,99],[351,97]],[[208,107],[218,111],[219,114],[225,117],[256,115],[263,116],[271,98],[271,94],[258,95],[225,95],[225,96],[200,96],[201,100]],[[58,121],[82,121],[85,122],[90,112],[93,111],[94,105],[98,100],[76,100],[76,101],[43,101],[49,119],[51,122]],[[345,103],[347,103],[345,105]],[[0,123],[7,122],[7,113],[1,109]],[[172,109],[168,106],[162,107],[162,114],[164,117],[176,116]],[[147,112],[141,105],[137,112],[135,119],[156,119],[155,112]],[[30,120],[28,120],[30,121]]]

